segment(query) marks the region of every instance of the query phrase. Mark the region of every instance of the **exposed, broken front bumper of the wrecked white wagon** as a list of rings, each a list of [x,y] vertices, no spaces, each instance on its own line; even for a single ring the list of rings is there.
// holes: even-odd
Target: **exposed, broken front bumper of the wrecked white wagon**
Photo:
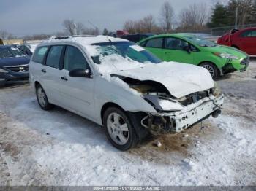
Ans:
[[[217,98],[211,95],[178,112],[149,114],[147,124],[143,124],[145,119],[141,124],[155,134],[179,133],[181,130],[205,120],[211,114],[217,117],[216,114],[219,114],[223,101],[223,95],[219,95]],[[158,120],[156,120],[157,117]]]

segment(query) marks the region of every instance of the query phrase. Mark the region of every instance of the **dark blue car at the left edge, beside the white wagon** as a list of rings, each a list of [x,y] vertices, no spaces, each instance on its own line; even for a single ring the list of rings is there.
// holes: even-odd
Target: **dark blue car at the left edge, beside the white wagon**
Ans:
[[[8,83],[27,82],[29,58],[17,47],[0,46],[0,86]]]

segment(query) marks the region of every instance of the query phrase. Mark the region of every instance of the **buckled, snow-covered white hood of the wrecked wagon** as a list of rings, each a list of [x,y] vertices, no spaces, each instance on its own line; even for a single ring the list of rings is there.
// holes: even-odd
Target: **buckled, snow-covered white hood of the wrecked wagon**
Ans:
[[[186,63],[148,63],[140,68],[114,71],[112,74],[162,83],[176,98],[214,87],[211,74],[206,69]]]

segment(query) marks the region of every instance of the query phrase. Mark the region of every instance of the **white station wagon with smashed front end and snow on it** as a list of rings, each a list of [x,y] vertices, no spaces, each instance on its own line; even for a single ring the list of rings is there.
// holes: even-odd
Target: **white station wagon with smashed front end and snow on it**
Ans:
[[[217,117],[223,103],[206,69],[161,63],[133,42],[110,36],[43,42],[29,67],[42,109],[58,105],[103,125],[121,150],[148,133],[178,133]]]

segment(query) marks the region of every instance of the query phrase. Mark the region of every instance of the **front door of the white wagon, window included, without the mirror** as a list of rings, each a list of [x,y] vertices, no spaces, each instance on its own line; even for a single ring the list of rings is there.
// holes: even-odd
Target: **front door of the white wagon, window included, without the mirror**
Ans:
[[[94,119],[94,79],[93,77],[69,77],[69,71],[84,69],[91,71],[89,61],[78,47],[67,46],[63,69],[59,73],[63,106],[83,116]],[[92,71],[91,71],[92,72]]]

